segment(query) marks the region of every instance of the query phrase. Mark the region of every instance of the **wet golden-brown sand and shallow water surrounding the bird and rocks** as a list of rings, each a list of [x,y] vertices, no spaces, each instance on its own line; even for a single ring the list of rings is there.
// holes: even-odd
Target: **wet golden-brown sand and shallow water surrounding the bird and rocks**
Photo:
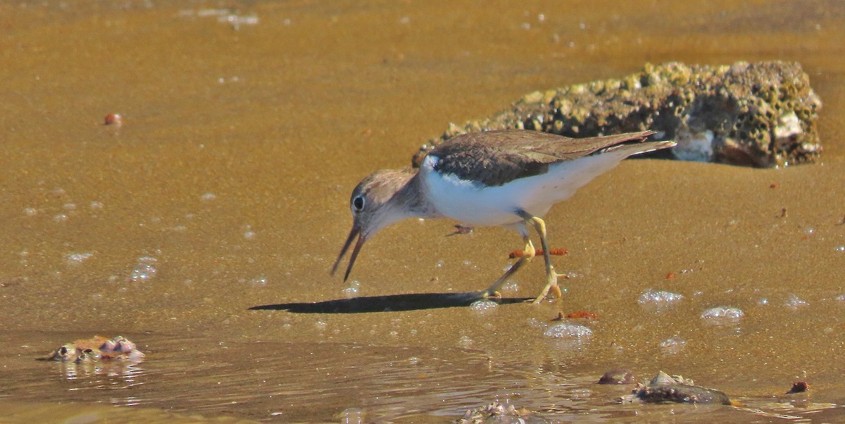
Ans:
[[[499,400],[548,421],[843,421],[843,19],[834,1],[0,3],[0,416],[443,422]],[[766,59],[810,74],[821,162],[624,162],[547,216],[562,299],[431,307],[520,247],[448,220],[382,231],[352,272],[365,301],[433,303],[354,313],[328,274],[355,184],[449,122],[646,62]],[[535,261],[504,296],[542,281]],[[649,289],[684,297],[643,306]],[[249,310],[282,304],[299,312]],[[718,306],[744,318],[701,318]],[[597,314],[569,320],[591,336],[544,336],[560,311]],[[94,334],[147,360],[36,361]],[[745,407],[620,405],[630,385],[594,384],[614,367]],[[784,396],[796,381],[810,392]]]

